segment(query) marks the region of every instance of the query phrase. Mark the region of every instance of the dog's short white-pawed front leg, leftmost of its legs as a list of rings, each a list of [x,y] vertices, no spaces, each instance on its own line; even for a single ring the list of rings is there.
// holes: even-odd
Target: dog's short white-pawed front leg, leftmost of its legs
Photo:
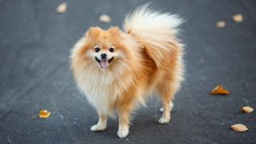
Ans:
[[[107,121],[106,114],[102,114],[100,111],[98,111],[98,123],[94,126],[91,126],[90,130],[92,131],[106,130],[106,121]]]

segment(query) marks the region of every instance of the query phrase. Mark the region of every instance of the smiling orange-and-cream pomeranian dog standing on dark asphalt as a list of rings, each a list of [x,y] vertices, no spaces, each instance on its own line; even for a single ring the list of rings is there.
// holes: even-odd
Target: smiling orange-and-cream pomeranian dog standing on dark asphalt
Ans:
[[[170,122],[174,94],[183,80],[183,44],[176,37],[182,19],[139,6],[126,16],[123,31],[90,27],[71,50],[78,89],[98,112],[92,131],[106,130],[107,117],[118,114],[118,137],[129,133],[130,113],[157,90],[162,99],[159,123]]]

